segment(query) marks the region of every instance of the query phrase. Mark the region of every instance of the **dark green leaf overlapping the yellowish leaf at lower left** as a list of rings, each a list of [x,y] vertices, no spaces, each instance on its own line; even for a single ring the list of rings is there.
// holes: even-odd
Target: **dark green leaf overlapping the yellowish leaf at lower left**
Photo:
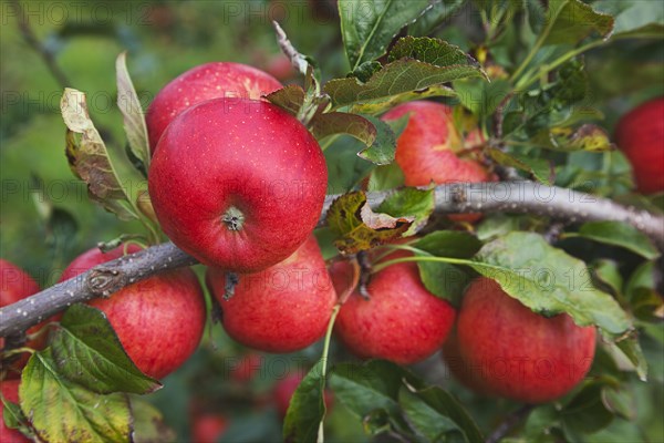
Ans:
[[[86,305],[66,310],[52,333],[51,353],[60,375],[93,392],[147,393],[162,388],[125,353],[104,312]]]

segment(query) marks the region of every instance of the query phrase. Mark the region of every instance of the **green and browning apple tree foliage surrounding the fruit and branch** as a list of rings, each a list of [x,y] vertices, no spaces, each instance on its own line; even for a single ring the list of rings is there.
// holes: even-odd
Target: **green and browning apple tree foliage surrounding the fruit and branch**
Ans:
[[[616,41],[661,42],[662,7],[623,0],[547,3],[341,0],[349,69],[347,75],[331,80],[323,80],[317,61],[301,54],[276,23],[279,43],[303,82],[267,100],[310,128],[325,151],[330,192],[343,194],[318,233],[328,251],[353,255],[413,235],[434,214],[433,190],[403,187],[394,163],[396,138],[407,117],[390,123],[377,117],[418,99],[454,103],[457,126],[478,125],[487,141],[484,154],[521,178],[662,210],[661,198],[625,197],[632,186],[629,164],[601,127],[602,112],[589,104],[592,85],[583,58]],[[470,53],[430,37],[454,37],[438,31],[461,8],[475,11],[484,30],[484,41]],[[122,185],[133,178],[141,183],[149,167],[146,125],[124,53],[117,58],[116,76],[125,155],[110,154],[87,112],[86,95],[66,89],[61,101],[66,158],[92,200],[122,220],[137,220],[144,235],[134,239],[156,244],[166,239],[146,189]],[[359,190],[364,177],[369,190],[394,189],[375,209]],[[596,186],[584,188],[589,182]],[[495,214],[474,230],[437,225],[394,248],[414,253],[424,285],[454,306],[459,306],[466,284],[481,275],[536,312],[566,312],[578,324],[595,326],[602,340],[591,377],[560,401],[533,408],[504,441],[596,441],[593,435],[612,423],[635,420],[641,384],[651,377],[661,379],[649,370],[649,361],[662,359],[664,311],[654,278],[660,253],[645,235],[621,223],[592,222],[564,230],[561,240],[575,241],[570,248],[547,241],[549,225],[541,216]],[[127,238],[133,237],[122,239]],[[626,274],[616,262],[621,255],[630,255],[637,266]],[[550,274],[525,274],[531,264]],[[387,361],[332,361],[338,310],[322,356],[292,398],[284,441],[324,440],[325,390],[369,436],[395,441],[485,441],[494,427],[486,425],[491,420],[486,409],[494,416],[505,415],[487,404],[481,412],[467,393],[449,392]],[[20,404],[3,400],[4,421],[45,442],[170,441],[175,436],[160,412],[141,399],[160,388],[133,364],[101,311],[76,305],[55,327],[49,347],[30,358],[21,377]],[[229,433],[222,441],[231,439]]]

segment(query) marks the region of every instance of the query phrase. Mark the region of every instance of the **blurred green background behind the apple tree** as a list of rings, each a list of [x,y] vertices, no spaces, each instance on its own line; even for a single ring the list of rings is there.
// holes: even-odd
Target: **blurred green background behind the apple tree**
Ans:
[[[115,103],[118,53],[128,51],[128,70],[144,109],[168,81],[210,61],[248,63],[284,83],[300,82],[279,51],[272,20],[282,24],[300,52],[319,62],[324,79],[343,76],[349,66],[334,3],[332,0],[2,1],[0,256],[28,270],[42,286],[49,286],[76,255],[98,241],[139,230],[137,225],[121,223],[91,203],[84,185],[72,175],[64,156],[65,126],[59,107],[63,87],[87,94],[91,116],[112,155],[123,155],[125,138]],[[452,8],[460,2],[446,3]],[[476,16],[471,6],[464,7],[433,34],[473,51],[481,34]],[[506,32],[505,38],[515,37]],[[516,56],[492,55],[507,70]],[[602,126],[612,131],[623,112],[664,94],[663,60],[662,45],[650,41],[624,41],[588,55],[592,85],[589,104],[604,112]],[[360,159],[356,152],[356,146],[350,143],[328,150],[331,189],[345,190],[370,171],[370,164]],[[630,174],[629,167],[621,169],[620,162],[612,162],[616,155],[584,153],[577,161],[598,164],[598,169],[606,169],[601,179],[610,181],[612,174]],[[214,327],[194,358],[147,400],[163,411],[176,432],[176,441],[194,439],[194,433],[201,430],[209,430],[208,435],[224,431],[220,441],[279,441],[282,412],[276,383],[303,374],[320,352],[319,343],[292,356],[253,353],[234,343],[221,328]],[[332,354],[335,352],[342,351],[333,348]],[[594,434],[592,441],[662,437],[658,413],[664,408],[664,363],[654,360],[651,374],[658,382],[635,388],[640,392],[635,401],[646,404],[640,409],[635,423],[616,420],[606,431]],[[495,424],[481,399],[473,398],[450,381],[438,356],[415,370],[461,396],[485,430]],[[515,408],[502,403],[498,409]],[[334,405],[326,426],[329,441],[366,440],[360,421],[341,404]],[[609,435],[612,440],[606,440]],[[209,439],[214,441],[216,436]]]

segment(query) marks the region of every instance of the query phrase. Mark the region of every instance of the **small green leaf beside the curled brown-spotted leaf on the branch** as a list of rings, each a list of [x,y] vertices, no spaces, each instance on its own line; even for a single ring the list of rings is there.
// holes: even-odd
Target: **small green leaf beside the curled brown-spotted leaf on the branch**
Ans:
[[[391,193],[376,210],[393,217],[413,218],[413,224],[403,235],[408,237],[426,225],[434,208],[434,189],[405,187]]]

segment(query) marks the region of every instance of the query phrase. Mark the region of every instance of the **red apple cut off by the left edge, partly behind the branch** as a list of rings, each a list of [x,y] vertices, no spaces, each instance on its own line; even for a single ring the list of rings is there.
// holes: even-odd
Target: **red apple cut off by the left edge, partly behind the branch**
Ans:
[[[39,285],[32,277],[11,262],[0,259],[0,308],[15,303],[37,292],[39,292]],[[44,321],[33,326],[28,329],[27,333],[38,332],[45,323]],[[44,347],[45,341],[45,336],[41,336],[38,339],[28,341],[25,347],[39,350]],[[0,338],[0,349],[3,347],[4,339]],[[30,356],[24,353],[14,360],[9,368],[8,377],[18,377],[29,358]]]

